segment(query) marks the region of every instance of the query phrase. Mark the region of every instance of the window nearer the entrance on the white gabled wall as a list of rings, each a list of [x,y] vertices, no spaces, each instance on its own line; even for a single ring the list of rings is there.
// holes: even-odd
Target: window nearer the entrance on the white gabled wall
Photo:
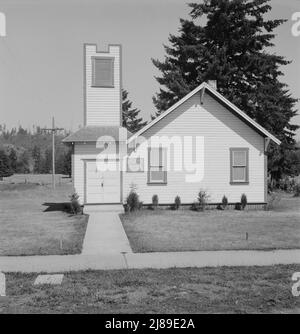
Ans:
[[[163,147],[148,149],[148,183],[167,183],[166,152],[167,150]]]

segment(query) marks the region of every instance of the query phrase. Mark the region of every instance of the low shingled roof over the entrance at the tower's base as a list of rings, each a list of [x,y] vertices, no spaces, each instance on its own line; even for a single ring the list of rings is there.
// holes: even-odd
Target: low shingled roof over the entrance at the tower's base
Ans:
[[[127,137],[120,138],[121,129],[125,134],[127,133]],[[96,142],[103,136],[112,137],[115,141],[126,141],[131,135],[127,129],[120,126],[85,126],[63,139],[63,142]]]

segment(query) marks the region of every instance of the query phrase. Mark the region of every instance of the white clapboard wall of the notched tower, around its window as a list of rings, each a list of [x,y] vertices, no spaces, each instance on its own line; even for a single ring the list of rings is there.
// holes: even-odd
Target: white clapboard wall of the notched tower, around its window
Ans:
[[[110,45],[108,52],[97,52],[96,45],[85,46],[85,125],[120,125],[121,46]],[[114,87],[92,87],[92,58],[114,58]]]

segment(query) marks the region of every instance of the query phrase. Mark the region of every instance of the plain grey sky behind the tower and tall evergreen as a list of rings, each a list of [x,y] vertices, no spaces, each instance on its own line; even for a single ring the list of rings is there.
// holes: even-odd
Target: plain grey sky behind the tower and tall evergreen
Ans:
[[[155,112],[152,97],[159,89],[155,80],[159,72],[151,58],[163,59],[169,34],[178,32],[180,18],[188,18],[186,3],[0,0],[7,21],[7,36],[0,37],[0,124],[49,126],[54,116],[56,124],[67,130],[82,125],[84,43],[95,43],[98,50],[122,44],[123,88],[148,120]],[[271,0],[270,4],[267,18],[288,20],[276,29],[271,52],[292,61],[282,68],[281,80],[300,98],[300,36],[291,32],[295,23],[291,17],[300,12],[300,0]],[[300,116],[293,123],[300,124]]]

